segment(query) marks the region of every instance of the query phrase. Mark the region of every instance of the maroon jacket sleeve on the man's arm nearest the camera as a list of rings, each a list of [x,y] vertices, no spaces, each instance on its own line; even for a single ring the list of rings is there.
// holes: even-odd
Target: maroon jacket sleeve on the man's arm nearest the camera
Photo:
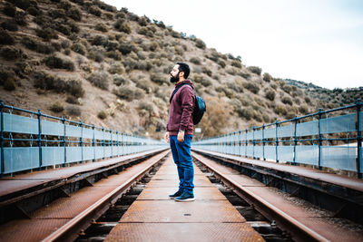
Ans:
[[[179,130],[186,131],[188,124],[191,122],[191,114],[194,109],[194,91],[188,85],[181,89],[182,98],[182,121]]]

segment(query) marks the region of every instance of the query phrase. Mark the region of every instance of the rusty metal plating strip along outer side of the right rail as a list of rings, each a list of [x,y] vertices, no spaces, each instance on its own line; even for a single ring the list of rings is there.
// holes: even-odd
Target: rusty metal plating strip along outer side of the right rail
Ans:
[[[299,227],[307,227],[309,233],[312,235],[315,233],[319,235],[322,239],[328,239],[331,241],[363,241],[363,235],[359,235],[355,231],[350,230],[348,227],[338,227],[337,224],[332,223],[331,218],[333,214],[331,212],[307,207],[306,204],[302,206],[297,202],[298,200],[289,196],[289,194],[283,193],[278,189],[266,187],[260,181],[253,181],[248,183],[245,178],[240,179],[238,175],[223,174],[223,165],[220,163],[206,159],[200,155],[198,160],[207,166],[211,166],[216,172],[220,173],[224,179],[227,179],[234,187],[239,187],[241,191],[245,194],[251,194],[255,199],[259,199],[261,204],[269,205],[270,208],[276,209],[277,213],[285,216],[286,218],[291,218],[290,221],[296,221]],[[246,186],[248,184],[255,184],[252,186]]]

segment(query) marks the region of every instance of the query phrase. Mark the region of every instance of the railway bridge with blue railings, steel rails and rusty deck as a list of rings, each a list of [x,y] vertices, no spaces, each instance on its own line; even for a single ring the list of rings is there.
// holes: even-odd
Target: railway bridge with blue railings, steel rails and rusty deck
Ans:
[[[168,143],[0,102],[0,241],[363,241],[362,102]]]

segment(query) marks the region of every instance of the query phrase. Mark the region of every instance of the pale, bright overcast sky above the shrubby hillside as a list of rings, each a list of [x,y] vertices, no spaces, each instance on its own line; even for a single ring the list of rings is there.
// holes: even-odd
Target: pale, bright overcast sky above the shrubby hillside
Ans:
[[[103,0],[194,34],[273,77],[363,86],[362,0]]]

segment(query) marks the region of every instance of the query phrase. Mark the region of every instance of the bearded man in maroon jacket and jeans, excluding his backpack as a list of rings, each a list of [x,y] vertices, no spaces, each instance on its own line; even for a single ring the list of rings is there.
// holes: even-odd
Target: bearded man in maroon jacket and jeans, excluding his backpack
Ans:
[[[172,159],[178,169],[179,190],[169,195],[176,201],[194,200],[194,168],[191,160],[193,121],[191,113],[194,109],[195,95],[191,80],[187,80],[190,72],[188,64],[176,63],[172,68],[170,79],[170,82],[175,82],[175,88],[169,100],[169,121],[164,138],[170,142]]]

